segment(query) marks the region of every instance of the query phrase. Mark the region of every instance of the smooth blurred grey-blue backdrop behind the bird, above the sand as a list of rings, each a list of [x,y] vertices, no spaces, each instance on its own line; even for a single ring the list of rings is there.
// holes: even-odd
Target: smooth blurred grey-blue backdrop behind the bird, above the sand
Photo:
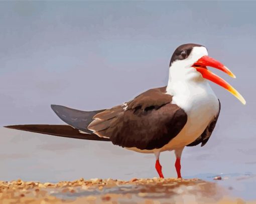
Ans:
[[[206,146],[185,149],[183,174],[255,172],[255,8],[256,2],[245,1],[0,2],[0,125],[61,124],[50,104],[109,108],[164,86],[176,47],[197,43],[237,76],[234,80],[214,70],[247,104],[212,84],[221,101],[220,117]],[[101,142],[1,131],[0,162],[5,165],[0,179],[157,175],[153,156]],[[72,165],[60,174],[67,165],[62,154]],[[162,160],[170,169],[167,175],[175,176],[169,154]],[[97,169],[105,160],[111,165],[100,174]],[[88,169],[88,162],[95,168]],[[24,163],[27,167],[17,175],[16,168]]]

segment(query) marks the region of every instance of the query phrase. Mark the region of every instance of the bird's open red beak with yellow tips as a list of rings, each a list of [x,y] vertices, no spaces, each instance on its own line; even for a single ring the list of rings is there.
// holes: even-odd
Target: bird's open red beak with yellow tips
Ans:
[[[201,57],[196,63],[193,64],[192,67],[194,67],[198,72],[202,74],[202,77],[205,79],[208,79],[215,84],[218,84],[219,86],[223,87],[224,89],[228,90],[231,94],[233,94],[239,101],[241,101],[242,104],[245,104],[246,101],[241,96],[241,94],[238,93],[230,84],[228,84],[225,80],[217,76],[216,74],[212,73],[210,70],[206,68],[206,66],[213,67],[216,69],[219,69],[226,74],[228,74],[230,77],[235,78],[235,75],[227,69],[223,64],[218,62],[217,60],[208,57],[203,56]]]

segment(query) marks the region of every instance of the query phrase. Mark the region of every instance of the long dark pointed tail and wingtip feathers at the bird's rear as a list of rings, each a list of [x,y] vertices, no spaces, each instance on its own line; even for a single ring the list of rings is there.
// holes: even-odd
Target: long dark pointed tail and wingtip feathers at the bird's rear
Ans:
[[[10,125],[5,126],[11,129],[37,132],[61,137],[77,139],[110,141],[108,138],[99,137],[87,129],[92,122],[92,117],[104,110],[81,111],[60,105],[51,105],[53,111],[68,125]]]

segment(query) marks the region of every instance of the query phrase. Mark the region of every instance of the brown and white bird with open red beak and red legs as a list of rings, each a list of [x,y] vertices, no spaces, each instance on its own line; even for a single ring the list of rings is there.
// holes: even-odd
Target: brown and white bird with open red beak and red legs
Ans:
[[[110,141],[114,145],[155,154],[155,168],[164,178],[160,153],[174,151],[177,177],[181,176],[181,155],[186,146],[204,146],[216,125],[220,101],[209,81],[244,98],[207,67],[235,75],[208,56],[205,46],[184,44],[171,56],[167,86],[149,89],[134,99],[109,109],[81,111],[61,105],[52,110],[66,125],[10,125],[8,128],[63,137]]]

